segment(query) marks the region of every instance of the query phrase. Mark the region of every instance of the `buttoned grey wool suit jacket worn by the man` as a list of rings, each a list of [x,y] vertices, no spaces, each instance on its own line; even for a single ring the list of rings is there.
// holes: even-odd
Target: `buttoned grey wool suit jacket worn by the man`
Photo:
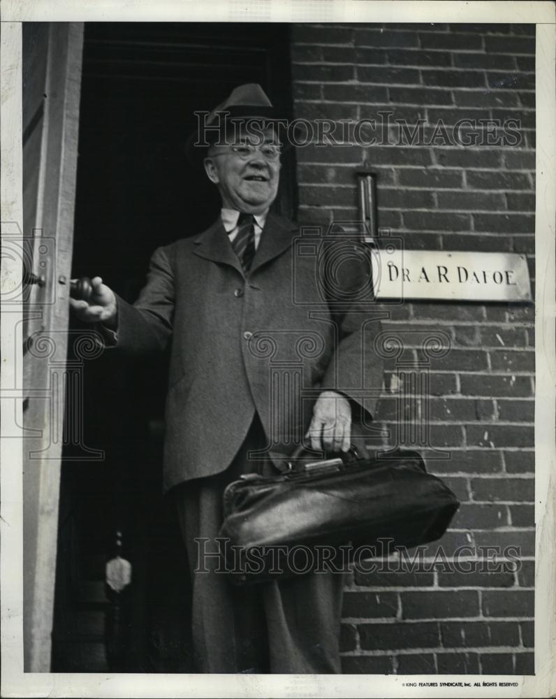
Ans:
[[[118,347],[148,354],[170,344],[165,491],[226,469],[255,412],[275,460],[305,434],[322,390],[374,412],[374,340],[387,314],[345,236],[269,213],[244,275],[219,218],[155,250],[136,303],[117,305]]]

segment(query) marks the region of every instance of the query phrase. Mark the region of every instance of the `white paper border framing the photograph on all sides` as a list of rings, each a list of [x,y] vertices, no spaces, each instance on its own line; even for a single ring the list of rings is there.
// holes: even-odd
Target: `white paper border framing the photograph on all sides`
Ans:
[[[536,396],[535,396],[535,669],[499,675],[516,687],[490,688],[492,697],[556,693],[556,360],[555,360],[555,4],[537,2],[361,0],[3,0],[1,6],[1,221],[22,226],[22,22],[504,22],[536,24]],[[2,284],[21,279],[17,261],[3,259]],[[17,313],[1,319],[1,391],[21,385],[14,361]],[[19,343],[21,347],[21,343]],[[6,393],[4,393],[6,391]],[[21,401],[1,412],[1,434],[22,424]],[[22,641],[22,444],[1,448],[1,691],[3,697],[444,697],[439,687],[406,688],[409,675],[134,675],[24,673]],[[438,675],[417,675],[438,681]],[[481,679],[450,675],[450,682]],[[453,687],[449,696],[483,697],[485,688]]]

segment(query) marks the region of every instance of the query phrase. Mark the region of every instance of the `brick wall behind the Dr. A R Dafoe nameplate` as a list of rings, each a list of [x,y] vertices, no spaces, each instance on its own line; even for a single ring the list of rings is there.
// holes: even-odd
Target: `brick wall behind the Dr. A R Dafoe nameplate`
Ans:
[[[534,275],[534,26],[299,24],[291,51],[295,117],[356,121],[389,110],[391,121],[425,120],[414,145],[395,145],[393,128],[392,145],[298,148],[301,221],[357,217],[354,171],[367,164],[378,173],[379,226],[408,249],[519,252]],[[461,118],[516,118],[520,142],[425,140],[439,119],[449,132]],[[441,540],[448,561],[460,545],[472,554],[513,545],[520,565],[356,572],[344,672],[534,672],[533,319],[531,305],[439,302],[404,303],[384,323],[414,359],[420,333],[408,330],[439,330],[451,343],[431,361],[428,396],[431,447],[451,452],[428,466],[462,502]],[[394,428],[400,390],[391,362],[376,419]]]

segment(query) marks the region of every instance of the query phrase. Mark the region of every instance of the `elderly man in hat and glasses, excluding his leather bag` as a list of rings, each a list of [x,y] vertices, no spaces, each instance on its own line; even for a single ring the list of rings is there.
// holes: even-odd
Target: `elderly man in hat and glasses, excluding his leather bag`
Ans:
[[[352,268],[345,293],[328,293],[319,245],[304,247],[298,226],[270,212],[280,172],[273,118],[261,87],[237,87],[196,134],[199,148],[209,138],[203,164],[221,195],[214,224],[156,250],[133,305],[98,277],[90,301],[72,301],[126,352],[171,345],[164,487],[191,569],[200,672],[340,672],[343,575],[242,587],[200,553],[213,550],[229,482],[277,473],[306,434],[314,449],[349,449],[352,411],[372,413],[381,385],[370,284],[354,283]]]

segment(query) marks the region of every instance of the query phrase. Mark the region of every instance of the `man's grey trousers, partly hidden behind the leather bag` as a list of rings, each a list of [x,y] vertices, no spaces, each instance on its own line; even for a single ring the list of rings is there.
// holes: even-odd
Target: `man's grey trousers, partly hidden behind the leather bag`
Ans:
[[[230,468],[175,489],[191,570],[191,624],[198,669],[339,672],[343,575],[314,573],[281,582],[234,586],[224,571],[217,572],[223,567],[214,542],[224,519],[222,493],[241,473],[261,469],[260,462],[247,459],[247,452],[265,446],[256,416]],[[196,539],[203,540],[202,547]],[[214,555],[199,561],[202,549]]]

